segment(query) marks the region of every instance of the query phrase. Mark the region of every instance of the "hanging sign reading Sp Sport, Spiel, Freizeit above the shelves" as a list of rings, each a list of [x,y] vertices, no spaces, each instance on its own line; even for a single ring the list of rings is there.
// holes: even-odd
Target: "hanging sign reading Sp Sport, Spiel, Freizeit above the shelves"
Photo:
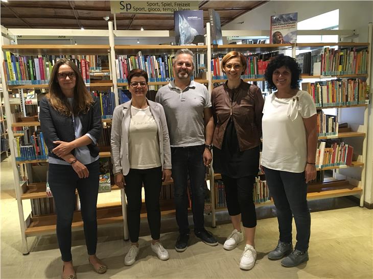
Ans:
[[[110,1],[112,14],[173,14],[198,10],[199,1]]]

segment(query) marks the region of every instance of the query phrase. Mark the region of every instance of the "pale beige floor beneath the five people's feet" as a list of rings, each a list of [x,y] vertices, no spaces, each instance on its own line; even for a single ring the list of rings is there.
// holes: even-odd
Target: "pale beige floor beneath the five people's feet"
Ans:
[[[60,278],[62,264],[55,235],[28,238],[31,252],[28,256],[21,254],[18,210],[12,196],[13,178],[9,166],[7,161],[1,164],[4,189],[1,198],[1,278]],[[26,209],[29,202],[24,204],[25,210],[29,210]],[[310,207],[317,211],[319,206],[335,207],[339,204],[340,199],[328,199]],[[273,207],[268,207],[258,215],[269,215],[273,210]],[[170,259],[165,262],[158,260],[151,251],[144,220],[139,256],[130,267],[123,264],[129,242],[123,240],[122,226],[100,227],[98,256],[109,267],[102,275],[92,271],[88,265],[83,232],[74,232],[74,265],[78,278],[373,278],[373,211],[355,206],[313,212],[311,216],[310,260],[296,268],[284,268],[278,261],[268,260],[266,255],[276,245],[278,233],[276,219],[267,218],[258,221],[255,239],[257,264],[250,271],[240,270],[238,263],[244,244],[231,251],[222,247],[232,230],[226,223],[226,214],[218,216],[216,229],[207,227],[218,238],[218,246],[196,241],[192,234],[189,248],[182,253],[173,248],[177,238],[175,220],[162,221],[165,233],[161,241],[170,253]]]

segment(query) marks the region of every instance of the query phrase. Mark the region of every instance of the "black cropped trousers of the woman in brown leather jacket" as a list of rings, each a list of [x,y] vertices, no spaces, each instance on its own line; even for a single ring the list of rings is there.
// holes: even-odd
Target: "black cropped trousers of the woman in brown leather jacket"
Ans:
[[[235,179],[222,174],[221,178],[224,182],[229,215],[236,216],[241,213],[243,226],[255,227],[257,225],[257,213],[252,196],[255,175]]]

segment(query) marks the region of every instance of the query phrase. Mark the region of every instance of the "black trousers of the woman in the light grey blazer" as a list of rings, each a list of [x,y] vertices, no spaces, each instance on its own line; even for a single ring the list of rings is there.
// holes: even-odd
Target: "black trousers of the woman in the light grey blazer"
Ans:
[[[125,176],[127,196],[127,225],[131,242],[138,241],[142,185],[144,183],[145,204],[152,239],[159,239],[160,208],[159,195],[162,186],[162,168],[130,169]]]

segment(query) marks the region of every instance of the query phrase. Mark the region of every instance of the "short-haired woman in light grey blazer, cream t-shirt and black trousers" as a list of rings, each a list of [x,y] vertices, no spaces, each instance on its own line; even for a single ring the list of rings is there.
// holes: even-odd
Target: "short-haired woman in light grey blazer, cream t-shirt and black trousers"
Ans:
[[[111,157],[115,184],[127,195],[127,224],[131,240],[124,259],[132,265],[138,254],[142,185],[151,248],[160,260],[168,260],[168,251],[160,244],[159,195],[162,181],[171,177],[171,148],[163,107],[146,98],[148,74],[133,69],[128,74],[132,99],[115,107],[111,124]]]

